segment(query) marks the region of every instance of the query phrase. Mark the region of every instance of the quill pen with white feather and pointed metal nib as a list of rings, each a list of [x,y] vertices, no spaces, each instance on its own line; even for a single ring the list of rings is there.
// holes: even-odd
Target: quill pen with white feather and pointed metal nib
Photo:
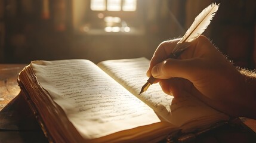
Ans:
[[[212,3],[206,7],[193,21],[183,38],[177,43],[169,55],[169,58],[178,58],[180,54],[190,45],[190,42],[198,38],[211,23],[212,18],[217,12],[219,4]],[[155,78],[150,76],[147,82],[142,86],[140,94],[147,91],[150,85],[155,82]],[[140,95],[139,94],[139,95]]]

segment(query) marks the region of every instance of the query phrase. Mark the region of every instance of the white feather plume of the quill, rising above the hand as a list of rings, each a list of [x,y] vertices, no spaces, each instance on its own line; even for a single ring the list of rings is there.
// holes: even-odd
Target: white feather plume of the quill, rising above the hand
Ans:
[[[183,51],[186,49],[190,42],[198,38],[208,25],[211,23],[212,17],[214,17],[215,13],[218,10],[219,4],[212,3],[208,7],[206,7],[193,21],[192,25],[189,27],[183,38],[177,43],[175,48],[172,50],[172,53]]]

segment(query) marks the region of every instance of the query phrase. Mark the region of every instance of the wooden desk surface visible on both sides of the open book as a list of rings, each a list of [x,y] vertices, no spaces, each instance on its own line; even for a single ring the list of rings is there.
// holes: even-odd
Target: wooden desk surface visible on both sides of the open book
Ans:
[[[23,96],[18,95],[17,77],[24,66],[0,64],[0,142],[48,142]],[[255,132],[256,120],[240,118],[192,142],[256,142]]]

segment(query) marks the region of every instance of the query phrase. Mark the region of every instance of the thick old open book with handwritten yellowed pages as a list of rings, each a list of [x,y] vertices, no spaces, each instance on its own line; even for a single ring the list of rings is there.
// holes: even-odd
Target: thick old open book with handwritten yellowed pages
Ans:
[[[138,95],[149,60],[32,61],[18,83],[53,142],[158,142],[229,120],[184,94],[174,98],[158,84]]]

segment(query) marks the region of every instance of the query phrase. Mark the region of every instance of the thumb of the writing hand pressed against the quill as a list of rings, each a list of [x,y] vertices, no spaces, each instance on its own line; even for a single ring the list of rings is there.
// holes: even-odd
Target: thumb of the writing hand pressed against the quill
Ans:
[[[199,58],[177,60],[169,58],[156,64],[151,70],[152,76],[157,79],[169,79],[171,77],[182,77],[192,80],[196,74],[200,74],[199,67],[202,64]]]

